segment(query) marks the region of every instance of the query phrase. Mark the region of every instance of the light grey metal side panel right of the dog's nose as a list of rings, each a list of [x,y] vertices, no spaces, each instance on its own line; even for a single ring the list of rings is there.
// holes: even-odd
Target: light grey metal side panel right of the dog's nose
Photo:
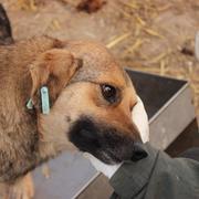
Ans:
[[[166,149],[196,117],[188,84],[174,95],[149,121],[150,144]]]

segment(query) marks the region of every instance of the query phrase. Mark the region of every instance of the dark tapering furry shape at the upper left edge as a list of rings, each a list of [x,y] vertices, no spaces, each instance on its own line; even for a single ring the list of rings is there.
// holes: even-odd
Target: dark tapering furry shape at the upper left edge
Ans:
[[[10,20],[3,6],[0,3],[0,45],[13,43]]]

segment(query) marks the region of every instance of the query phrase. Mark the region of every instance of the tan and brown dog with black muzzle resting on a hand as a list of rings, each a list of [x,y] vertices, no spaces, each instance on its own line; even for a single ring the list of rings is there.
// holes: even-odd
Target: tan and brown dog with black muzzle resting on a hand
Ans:
[[[41,111],[42,86],[49,114]],[[0,182],[20,187],[21,177],[63,150],[106,164],[136,159],[135,104],[128,75],[102,44],[41,36],[0,46]],[[23,191],[33,195],[31,186]]]

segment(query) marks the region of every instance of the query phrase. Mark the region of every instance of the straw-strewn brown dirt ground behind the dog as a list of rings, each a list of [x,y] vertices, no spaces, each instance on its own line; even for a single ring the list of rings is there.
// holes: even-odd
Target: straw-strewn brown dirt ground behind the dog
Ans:
[[[78,0],[0,0],[15,40],[48,34],[103,42],[124,66],[188,80],[199,118],[199,31],[196,0],[106,0],[94,13]]]

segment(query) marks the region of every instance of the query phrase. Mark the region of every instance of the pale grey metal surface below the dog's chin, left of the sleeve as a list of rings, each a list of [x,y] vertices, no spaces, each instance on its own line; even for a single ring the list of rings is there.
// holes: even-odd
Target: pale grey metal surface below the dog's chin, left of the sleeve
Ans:
[[[35,199],[71,199],[96,177],[96,170],[81,154],[64,153],[48,164],[50,178],[39,167],[33,172]]]

